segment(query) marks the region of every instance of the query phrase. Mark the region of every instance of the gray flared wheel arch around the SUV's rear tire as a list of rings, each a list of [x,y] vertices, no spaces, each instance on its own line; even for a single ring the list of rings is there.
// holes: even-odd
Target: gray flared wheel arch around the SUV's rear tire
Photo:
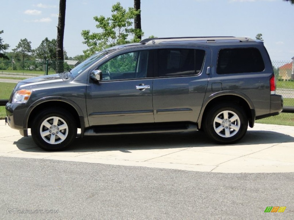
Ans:
[[[199,129],[203,125],[202,122],[204,121],[203,119],[206,117],[206,113],[208,112],[208,109],[210,109],[214,105],[217,105],[223,102],[232,102],[241,106],[245,110],[250,128],[253,128],[254,121],[255,121],[255,110],[254,110],[254,105],[252,101],[242,93],[223,91],[223,92],[212,94],[203,102],[204,105],[201,109],[201,113],[198,119]]]

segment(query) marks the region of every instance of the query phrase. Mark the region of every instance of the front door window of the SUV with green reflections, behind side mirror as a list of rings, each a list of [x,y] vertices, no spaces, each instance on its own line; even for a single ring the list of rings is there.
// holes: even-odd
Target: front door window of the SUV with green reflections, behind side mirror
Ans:
[[[102,80],[146,78],[148,50],[124,53],[98,67]]]

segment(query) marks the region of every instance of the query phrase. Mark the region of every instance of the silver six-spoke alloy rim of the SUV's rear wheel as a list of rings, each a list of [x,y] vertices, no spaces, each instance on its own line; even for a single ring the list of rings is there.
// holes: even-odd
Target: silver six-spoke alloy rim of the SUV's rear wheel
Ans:
[[[214,131],[221,137],[234,136],[240,129],[240,118],[233,111],[222,111],[213,120]]]

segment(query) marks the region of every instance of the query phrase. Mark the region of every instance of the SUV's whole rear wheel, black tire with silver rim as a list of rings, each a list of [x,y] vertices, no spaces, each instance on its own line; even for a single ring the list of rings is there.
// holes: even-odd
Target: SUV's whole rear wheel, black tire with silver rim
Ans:
[[[231,144],[245,135],[248,118],[245,111],[237,104],[218,104],[207,112],[203,128],[205,133],[217,143]]]

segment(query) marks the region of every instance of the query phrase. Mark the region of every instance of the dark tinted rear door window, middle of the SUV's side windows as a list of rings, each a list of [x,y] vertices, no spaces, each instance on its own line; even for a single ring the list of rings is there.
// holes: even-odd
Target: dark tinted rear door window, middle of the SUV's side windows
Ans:
[[[185,76],[201,72],[205,51],[194,49],[158,49],[158,76]]]

